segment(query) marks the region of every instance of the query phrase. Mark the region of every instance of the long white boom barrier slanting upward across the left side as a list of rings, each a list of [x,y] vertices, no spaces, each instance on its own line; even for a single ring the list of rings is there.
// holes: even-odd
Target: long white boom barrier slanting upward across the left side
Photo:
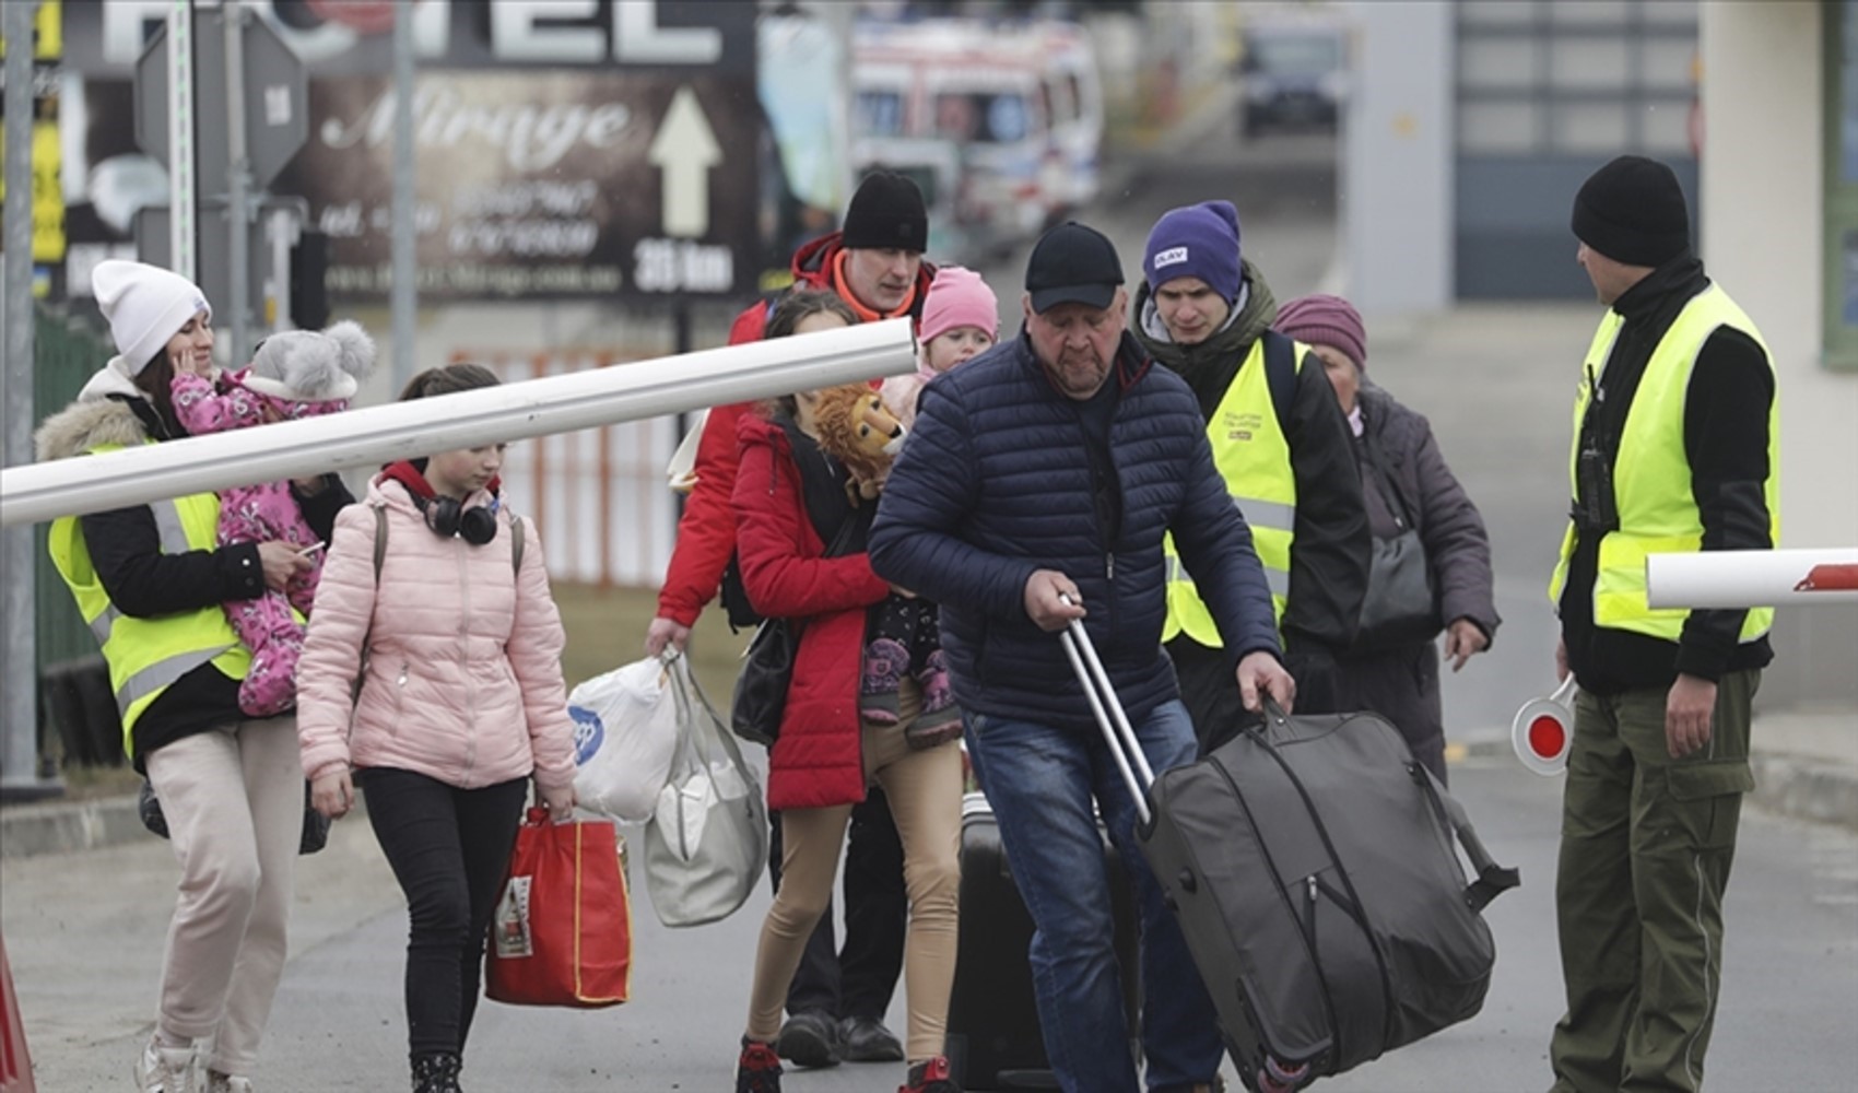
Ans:
[[[0,524],[379,467],[455,448],[901,375],[912,368],[916,357],[909,320],[884,320],[128,452],[7,467],[0,470]]]

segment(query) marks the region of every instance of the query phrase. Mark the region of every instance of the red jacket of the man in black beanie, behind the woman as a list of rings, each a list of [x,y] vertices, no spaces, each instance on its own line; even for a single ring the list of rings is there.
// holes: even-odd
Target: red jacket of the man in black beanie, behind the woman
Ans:
[[[819,236],[793,253],[793,284],[797,288],[831,288],[844,296],[832,279],[838,264],[840,232]],[[923,262],[916,273],[916,296],[910,299],[910,318],[922,316],[923,297],[935,281],[935,266]],[[767,316],[775,301],[758,299],[736,316],[728,327],[728,344],[760,342],[767,331]],[[678,541],[671,550],[665,586],[658,591],[658,615],[684,626],[695,626],[704,604],[723,584],[723,569],[736,552],[736,513],[728,498],[736,485],[736,426],[752,403],[738,402],[710,411],[702,437],[697,441],[697,485],[684,502],[678,520]]]

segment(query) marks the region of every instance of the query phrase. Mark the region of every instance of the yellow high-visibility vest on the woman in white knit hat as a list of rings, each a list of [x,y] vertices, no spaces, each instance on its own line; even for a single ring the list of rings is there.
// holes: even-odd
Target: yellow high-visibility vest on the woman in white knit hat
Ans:
[[[119,446],[98,444],[91,452],[113,448]],[[160,500],[152,502],[149,509],[154,511],[154,526],[162,535],[162,554],[186,554],[216,546],[219,532],[217,494],[195,493]],[[136,751],[130,736],[136,719],[177,678],[203,664],[212,664],[234,680],[245,678],[251,669],[251,651],[240,641],[219,604],[149,619],[124,615],[110,602],[110,593],[97,578],[89,546],[84,543],[84,526],[76,517],[52,520],[48,548],[52,565],[71,586],[71,595],[78,600],[78,613],[97,636],[104,662],[110,664],[110,690],[115,691],[117,710],[123,714],[124,753],[134,755]]]

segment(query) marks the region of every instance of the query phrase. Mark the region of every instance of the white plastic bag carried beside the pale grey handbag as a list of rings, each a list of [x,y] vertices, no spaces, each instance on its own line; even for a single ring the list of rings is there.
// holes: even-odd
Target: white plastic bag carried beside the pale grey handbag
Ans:
[[[678,751],[678,703],[663,660],[615,667],[574,688],[574,796],[580,807],[626,823],[658,809]]]

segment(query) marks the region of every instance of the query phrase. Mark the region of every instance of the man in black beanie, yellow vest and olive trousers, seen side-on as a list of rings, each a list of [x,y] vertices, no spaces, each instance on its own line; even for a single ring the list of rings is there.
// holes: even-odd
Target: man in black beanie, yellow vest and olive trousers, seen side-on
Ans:
[[[1555,909],[1568,1011],[1555,1093],[1696,1089],[1722,890],[1773,608],[1652,610],[1644,561],[1774,546],[1774,368],[1704,275],[1670,167],[1620,156],[1574,199],[1607,314],[1576,398],[1572,520],[1550,595],[1579,682]]]

